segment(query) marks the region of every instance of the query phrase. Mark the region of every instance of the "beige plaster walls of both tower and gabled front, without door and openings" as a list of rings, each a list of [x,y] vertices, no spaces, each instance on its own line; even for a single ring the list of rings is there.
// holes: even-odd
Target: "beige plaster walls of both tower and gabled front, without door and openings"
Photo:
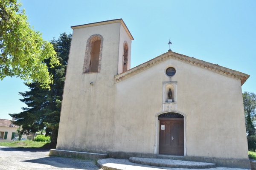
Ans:
[[[156,114],[167,112],[163,82],[170,81],[165,69],[173,66],[173,109],[186,116],[187,156],[247,159],[240,80],[169,59],[116,83],[123,41],[131,41],[122,32],[120,23],[73,31],[57,149],[157,153]],[[82,74],[93,34],[104,38],[101,71]]]

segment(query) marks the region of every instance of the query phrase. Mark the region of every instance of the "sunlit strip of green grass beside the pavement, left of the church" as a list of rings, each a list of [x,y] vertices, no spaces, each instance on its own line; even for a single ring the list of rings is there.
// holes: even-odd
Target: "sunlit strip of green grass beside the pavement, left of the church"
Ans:
[[[50,143],[26,140],[26,141],[15,141],[15,142],[0,142],[0,146],[49,148]]]

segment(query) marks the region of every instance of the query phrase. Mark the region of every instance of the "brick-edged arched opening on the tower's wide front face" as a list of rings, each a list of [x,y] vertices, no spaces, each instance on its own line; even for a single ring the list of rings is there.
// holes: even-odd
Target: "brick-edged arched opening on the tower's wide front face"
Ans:
[[[88,38],[84,56],[83,73],[100,72],[102,59],[102,44],[103,37],[99,34],[94,34]]]

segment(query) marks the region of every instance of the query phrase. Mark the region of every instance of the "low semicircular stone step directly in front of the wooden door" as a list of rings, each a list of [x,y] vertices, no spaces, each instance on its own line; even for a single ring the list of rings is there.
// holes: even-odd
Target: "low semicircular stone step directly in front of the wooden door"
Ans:
[[[190,168],[190,169],[204,169],[204,168],[216,167],[216,164],[214,163],[182,161],[182,160],[174,160],[174,159],[130,157],[129,161],[136,164],[144,164],[144,165],[149,165],[154,167],[172,167],[172,168]]]

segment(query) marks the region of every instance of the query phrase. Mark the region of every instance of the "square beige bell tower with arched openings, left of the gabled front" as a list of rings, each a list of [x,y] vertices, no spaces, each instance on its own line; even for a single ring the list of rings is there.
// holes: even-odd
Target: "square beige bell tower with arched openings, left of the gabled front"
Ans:
[[[115,103],[116,100],[114,77],[131,68],[131,40],[134,39],[122,19],[71,28],[73,35],[57,148],[86,150],[88,146],[95,144],[90,139],[99,134],[98,125],[110,127],[105,128],[106,134],[113,131],[111,125],[114,106],[110,102]],[[90,130],[90,134],[84,133],[91,128],[89,122],[94,121],[97,121],[96,127]],[[76,125],[82,125],[83,128],[78,130]],[[85,136],[90,137],[84,139]],[[69,146],[66,141],[72,139],[78,140]]]

